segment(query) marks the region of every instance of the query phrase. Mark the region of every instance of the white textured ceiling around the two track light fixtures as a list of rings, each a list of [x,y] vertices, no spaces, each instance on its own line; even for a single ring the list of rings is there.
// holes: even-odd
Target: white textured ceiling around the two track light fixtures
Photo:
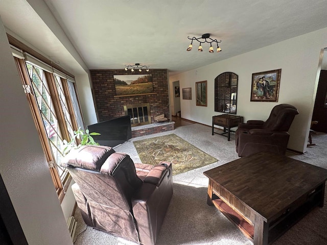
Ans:
[[[0,15],[6,28],[51,54],[54,60],[74,66],[69,54],[61,52],[65,45],[52,40],[52,27],[40,21],[36,2],[2,1]],[[44,2],[89,69],[141,63],[167,68],[174,74],[327,27],[327,0]],[[26,5],[24,10],[21,5]],[[27,16],[17,18],[15,11],[19,9],[20,16],[24,15],[21,11]],[[46,35],[40,40],[36,32]],[[208,53],[208,43],[202,45],[203,52],[198,52],[195,42],[193,50],[186,52],[190,44],[187,37],[204,33],[222,40],[222,52]]]

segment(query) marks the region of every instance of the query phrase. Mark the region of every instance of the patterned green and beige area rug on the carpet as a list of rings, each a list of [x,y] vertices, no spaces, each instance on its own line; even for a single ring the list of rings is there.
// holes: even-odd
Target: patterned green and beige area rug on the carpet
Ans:
[[[202,167],[218,160],[175,134],[133,141],[142,163],[173,163],[173,175]]]

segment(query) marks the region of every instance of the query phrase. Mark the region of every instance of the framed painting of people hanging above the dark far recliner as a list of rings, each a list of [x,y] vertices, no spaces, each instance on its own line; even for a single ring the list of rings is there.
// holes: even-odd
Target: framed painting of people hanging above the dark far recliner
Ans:
[[[282,69],[252,74],[251,101],[278,102]]]

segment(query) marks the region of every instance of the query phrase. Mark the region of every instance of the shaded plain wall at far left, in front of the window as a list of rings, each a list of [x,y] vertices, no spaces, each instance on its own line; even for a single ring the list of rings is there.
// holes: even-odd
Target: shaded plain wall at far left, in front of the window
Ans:
[[[29,244],[73,244],[0,18],[0,173]]]

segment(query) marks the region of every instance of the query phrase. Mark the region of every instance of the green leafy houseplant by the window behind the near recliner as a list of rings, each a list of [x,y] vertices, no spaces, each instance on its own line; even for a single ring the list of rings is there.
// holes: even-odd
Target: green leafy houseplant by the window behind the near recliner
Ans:
[[[74,135],[71,138],[71,141],[67,142],[67,140],[63,140],[63,154],[66,155],[72,149],[78,149],[82,145],[99,145],[99,143],[94,141],[94,138],[92,137],[94,135],[100,135],[100,133],[90,133],[88,129],[86,129],[84,132],[81,130],[81,127],[79,127],[78,130],[74,131]],[[79,142],[79,144],[77,144],[77,142]]]

